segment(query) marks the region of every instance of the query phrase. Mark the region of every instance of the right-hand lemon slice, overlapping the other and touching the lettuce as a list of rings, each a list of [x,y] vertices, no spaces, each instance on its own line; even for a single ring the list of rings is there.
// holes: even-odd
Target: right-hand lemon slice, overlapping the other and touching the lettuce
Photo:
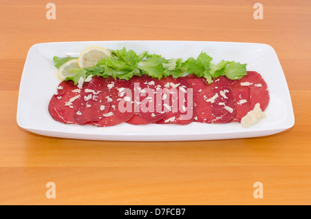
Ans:
[[[96,65],[102,58],[106,59],[110,52],[97,46],[87,48],[79,55],[79,67],[90,67]]]

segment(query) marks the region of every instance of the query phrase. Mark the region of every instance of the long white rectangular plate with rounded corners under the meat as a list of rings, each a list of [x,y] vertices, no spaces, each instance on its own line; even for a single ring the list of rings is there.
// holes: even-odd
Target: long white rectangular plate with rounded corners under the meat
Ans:
[[[270,92],[266,117],[253,127],[240,123],[189,125],[129,125],[113,127],[91,125],[65,125],[54,121],[48,112],[50,98],[61,82],[54,67],[53,56],[78,56],[90,46],[117,50],[123,47],[135,52],[148,51],[167,59],[192,56],[201,51],[213,57],[212,63],[222,59],[247,63],[247,70],[263,76]],[[94,140],[209,140],[249,138],[282,132],[294,125],[294,112],[290,92],[279,59],[270,45],[258,43],[229,43],[205,41],[85,41],[39,43],[28,52],[21,76],[17,123],[23,129],[45,136]]]

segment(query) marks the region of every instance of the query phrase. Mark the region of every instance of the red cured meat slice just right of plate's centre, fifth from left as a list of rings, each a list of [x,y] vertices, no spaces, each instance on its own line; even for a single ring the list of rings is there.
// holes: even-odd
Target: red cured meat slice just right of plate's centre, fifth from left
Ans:
[[[167,115],[156,123],[187,125],[194,121],[193,89],[187,79],[169,76],[161,81],[164,82],[162,110]]]

